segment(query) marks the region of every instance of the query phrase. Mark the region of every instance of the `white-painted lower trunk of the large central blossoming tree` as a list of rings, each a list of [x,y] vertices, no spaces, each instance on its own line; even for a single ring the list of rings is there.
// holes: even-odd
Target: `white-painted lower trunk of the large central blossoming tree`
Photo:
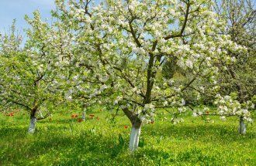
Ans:
[[[139,140],[140,140],[140,127],[139,128],[132,127],[132,130],[130,132],[130,143],[129,143],[130,151],[137,150],[137,147],[139,145]]]

